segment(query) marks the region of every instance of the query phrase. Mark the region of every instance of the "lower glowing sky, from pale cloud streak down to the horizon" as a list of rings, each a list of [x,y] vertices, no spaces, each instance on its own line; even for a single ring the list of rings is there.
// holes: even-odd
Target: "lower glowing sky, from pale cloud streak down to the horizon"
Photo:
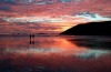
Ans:
[[[67,29],[74,27],[80,23],[91,21],[108,21],[110,18],[103,18],[95,14],[94,18],[91,16],[61,16],[61,17],[6,17],[1,18],[6,21],[1,23],[1,33],[4,32],[33,32],[33,33],[59,33]]]

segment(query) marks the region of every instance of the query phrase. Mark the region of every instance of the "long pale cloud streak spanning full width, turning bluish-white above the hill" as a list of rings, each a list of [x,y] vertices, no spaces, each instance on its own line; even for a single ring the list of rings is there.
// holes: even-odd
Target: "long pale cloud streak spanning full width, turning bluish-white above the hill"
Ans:
[[[94,18],[90,14],[77,16],[62,16],[57,18],[51,17],[19,17],[19,18],[3,18],[7,22],[21,22],[21,23],[58,23],[58,22],[89,22],[89,21],[109,21],[110,18],[104,18],[95,14]]]

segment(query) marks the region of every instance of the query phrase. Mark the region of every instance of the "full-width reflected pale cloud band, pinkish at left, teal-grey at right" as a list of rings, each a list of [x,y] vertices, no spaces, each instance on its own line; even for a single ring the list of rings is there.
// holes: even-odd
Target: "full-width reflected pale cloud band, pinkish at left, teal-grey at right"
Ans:
[[[107,54],[111,54],[111,51],[109,50],[82,50],[82,49],[73,49],[71,51],[62,50],[61,48],[40,48],[40,49],[6,49],[3,53],[12,53],[12,54],[41,54],[41,55],[63,55],[63,56],[71,56],[79,59],[99,59],[101,56],[104,56]]]

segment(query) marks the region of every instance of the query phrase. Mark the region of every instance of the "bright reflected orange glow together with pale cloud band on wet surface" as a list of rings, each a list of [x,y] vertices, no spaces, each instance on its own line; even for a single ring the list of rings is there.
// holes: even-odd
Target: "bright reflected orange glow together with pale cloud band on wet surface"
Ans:
[[[32,39],[34,41],[33,44],[28,43],[28,38],[12,38],[10,39],[11,42],[4,41],[6,43],[3,44],[7,44],[7,47],[3,45],[1,52],[3,54],[26,54],[27,56],[29,54],[37,56],[51,56],[52,54],[56,54],[61,56],[74,56],[79,59],[99,59],[107,54],[111,54],[110,50],[98,49],[98,47],[94,47],[97,49],[91,49],[90,47],[79,47],[78,43],[70,41],[70,39],[75,40],[79,38],[36,37],[34,39]],[[85,41],[82,42],[87,43]]]

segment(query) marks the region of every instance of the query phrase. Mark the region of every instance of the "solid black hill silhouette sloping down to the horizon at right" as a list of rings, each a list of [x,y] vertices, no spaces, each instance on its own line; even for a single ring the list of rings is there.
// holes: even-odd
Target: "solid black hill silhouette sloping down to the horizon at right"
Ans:
[[[78,24],[60,34],[65,35],[111,35],[111,21]]]

